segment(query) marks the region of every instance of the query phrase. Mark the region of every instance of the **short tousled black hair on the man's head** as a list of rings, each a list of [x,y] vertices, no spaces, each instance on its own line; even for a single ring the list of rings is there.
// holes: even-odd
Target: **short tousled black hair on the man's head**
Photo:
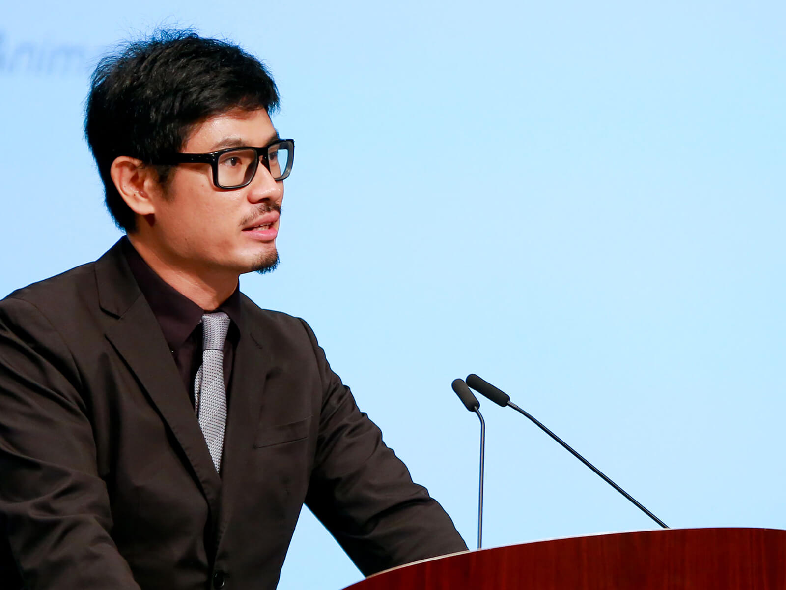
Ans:
[[[278,108],[265,66],[240,47],[193,31],[157,31],[98,63],[90,80],[85,136],[118,227],[133,232],[134,212],[109,174],[116,157],[143,162],[182,149],[195,124],[230,109]],[[156,167],[165,182],[167,167]]]

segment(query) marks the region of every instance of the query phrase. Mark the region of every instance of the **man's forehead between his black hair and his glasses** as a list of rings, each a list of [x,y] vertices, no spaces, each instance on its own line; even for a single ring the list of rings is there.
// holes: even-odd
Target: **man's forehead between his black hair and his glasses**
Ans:
[[[265,146],[276,137],[276,128],[265,109],[233,109],[196,124],[183,151],[204,153],[232,146]]]

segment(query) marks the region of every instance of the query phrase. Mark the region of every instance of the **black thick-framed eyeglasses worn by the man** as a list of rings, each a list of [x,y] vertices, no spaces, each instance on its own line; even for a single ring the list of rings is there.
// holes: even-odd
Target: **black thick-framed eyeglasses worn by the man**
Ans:
[[[211,153],[173,153],[153,164],[210,164],[213,184],[219,189],[241,189],[254,179],[259,161],[274,180],[284,180],[292,171],[295,140],[277,139],[263,147],[240,146]]]

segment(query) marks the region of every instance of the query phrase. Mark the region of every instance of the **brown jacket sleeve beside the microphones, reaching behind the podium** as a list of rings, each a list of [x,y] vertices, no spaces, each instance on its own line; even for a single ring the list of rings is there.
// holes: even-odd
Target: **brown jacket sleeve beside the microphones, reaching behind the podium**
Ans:
[[[331,371],[313,332],[323,397],[306,503],[366,576],[404,563],[465,551],[443,508],[414,484],[382,433]]]

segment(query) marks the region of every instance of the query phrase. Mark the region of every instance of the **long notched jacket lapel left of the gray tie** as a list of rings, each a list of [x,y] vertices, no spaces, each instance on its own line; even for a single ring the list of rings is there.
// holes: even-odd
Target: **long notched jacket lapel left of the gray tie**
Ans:
[[[221,479],[194,415],[160,326],[134,280],[118,242],[96,262],[101,308],[116,317],[106,337],[148,393],[189,460],[196,481],[219,514]]]

